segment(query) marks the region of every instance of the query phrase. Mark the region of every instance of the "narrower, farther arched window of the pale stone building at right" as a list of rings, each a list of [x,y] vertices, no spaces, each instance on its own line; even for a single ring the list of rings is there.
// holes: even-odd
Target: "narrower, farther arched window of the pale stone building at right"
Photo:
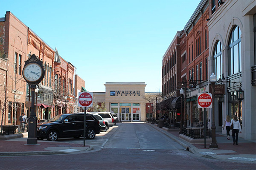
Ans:
[[[217,79],[219,77],[221,77],[221,75],[223,73],[223,71],[222,71],[221,42],[220,41],[216,42],[215,47],[214,47],[213,72],[215,73]]]

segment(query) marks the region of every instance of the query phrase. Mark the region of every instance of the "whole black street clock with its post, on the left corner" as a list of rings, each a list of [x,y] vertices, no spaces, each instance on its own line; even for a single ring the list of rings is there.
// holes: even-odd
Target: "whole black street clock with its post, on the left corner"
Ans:
[[[29,84],[31,89],[31,108],[28,119],[28,139],[27,144],[37,144],[37,117],[35,115],[35,88],[43,79],[45,75],[43,62],[33,54],[25,61],[22,70],[23,78]]]

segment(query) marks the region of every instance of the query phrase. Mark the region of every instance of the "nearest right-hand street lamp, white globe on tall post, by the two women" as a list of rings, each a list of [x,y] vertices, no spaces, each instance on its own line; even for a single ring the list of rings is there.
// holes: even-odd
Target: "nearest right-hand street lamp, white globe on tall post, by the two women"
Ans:
[[[210,149],[218,149],[218,144],[216,143],[216,126],[214,114],[215,82],[216,76],[214,73],[212,73],[212,75],[210,76],[210,83],[212,84],[212,143],[209,146]]]

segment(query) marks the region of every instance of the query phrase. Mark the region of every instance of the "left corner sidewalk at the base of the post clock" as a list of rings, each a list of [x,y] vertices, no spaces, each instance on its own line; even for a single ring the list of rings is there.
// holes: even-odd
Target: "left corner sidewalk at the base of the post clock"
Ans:
[[[27,133],[22,133],[27,136]],[[38,144],[27,144],[27,138],[21,137],[10,140],[0,140],[0,156],[23,156],[23,155],[52,155],[65,153],[85,153],[93,147],[83,144],[70,144],[63,142],[40,141]]]

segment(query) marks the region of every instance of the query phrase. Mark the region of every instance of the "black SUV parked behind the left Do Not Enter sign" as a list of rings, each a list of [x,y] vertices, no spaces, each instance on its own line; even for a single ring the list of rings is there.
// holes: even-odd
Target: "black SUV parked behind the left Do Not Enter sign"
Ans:
[[[86,139],[94,139],[100,132],[99,120],[92,114],[86,114]],[[48,122],[37,124],[37,138],[56,141],[58,138],[80,138],[84,135],[84,113],[60,114]]]

